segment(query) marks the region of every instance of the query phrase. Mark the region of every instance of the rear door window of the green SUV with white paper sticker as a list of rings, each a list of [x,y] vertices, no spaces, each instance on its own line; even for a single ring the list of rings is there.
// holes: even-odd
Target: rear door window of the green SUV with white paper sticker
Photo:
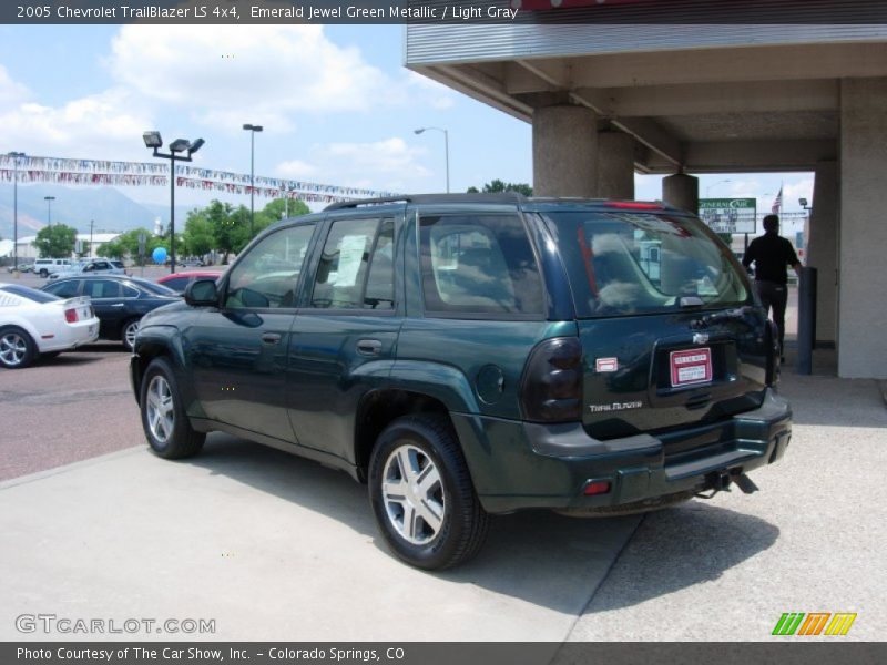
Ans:
[[[394,309],[394,219],[338,219],[324,244],[312,307]]]

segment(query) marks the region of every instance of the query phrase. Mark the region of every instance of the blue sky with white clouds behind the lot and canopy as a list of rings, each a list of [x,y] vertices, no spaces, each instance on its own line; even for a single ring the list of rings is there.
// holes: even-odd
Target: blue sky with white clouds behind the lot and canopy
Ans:
[[[406,70],[402,41],[400,25],[0,25],[0,153],[152,161],[141,134],[156,129],[167,143],[205,139],[197,166],[246,173],[253,123],[265,127],[256,175],[440,192],[443,136],[414,133],[437,126],[453,192],[531,182],[530,126]],[[761,209],[783,182],[786,211],[812,198],[812,174],[702,176],[700,195]],[[169,201],[162,187],[122,191]],[[638,176],[636,197],[660,198],[660,177]]]

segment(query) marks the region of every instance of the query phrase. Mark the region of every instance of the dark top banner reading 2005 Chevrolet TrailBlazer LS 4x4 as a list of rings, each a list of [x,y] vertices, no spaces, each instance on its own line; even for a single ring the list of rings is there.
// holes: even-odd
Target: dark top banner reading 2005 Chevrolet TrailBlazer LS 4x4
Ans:
[[[10,24],[885,24],[884,0],[10,0]]]

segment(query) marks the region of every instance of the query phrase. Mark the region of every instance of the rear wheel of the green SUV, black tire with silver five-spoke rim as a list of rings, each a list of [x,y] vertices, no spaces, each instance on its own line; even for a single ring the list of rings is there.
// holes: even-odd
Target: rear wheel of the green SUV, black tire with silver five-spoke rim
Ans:
[[[411,468],[406,473],[405,463]],[[392,484],[404,494],[391,492]],[[489,515],[449,419],[441,416],[406,416],[379,434],[369,461],[369,501],[388,546],[416,567],[463,563],[487,538]]]

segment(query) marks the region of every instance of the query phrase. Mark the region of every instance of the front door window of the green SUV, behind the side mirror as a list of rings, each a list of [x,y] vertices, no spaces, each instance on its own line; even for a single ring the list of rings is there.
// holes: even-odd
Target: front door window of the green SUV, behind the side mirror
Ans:
[[[314,225],[288,226],[265,236],[231,272],[225,307],[296,306],[296,287]]]

